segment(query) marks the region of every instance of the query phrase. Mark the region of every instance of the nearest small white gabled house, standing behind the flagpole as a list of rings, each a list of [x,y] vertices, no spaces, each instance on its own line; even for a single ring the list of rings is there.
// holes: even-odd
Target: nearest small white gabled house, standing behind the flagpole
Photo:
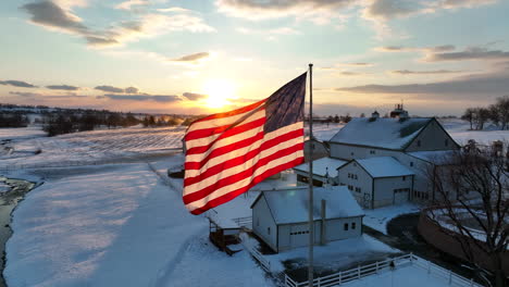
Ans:
[[[253,233],[274,251],[308,246],[307,188],[262,191],[251,209]],[[364,213],[345,186],[315,188],[313,209],[314,245],[362,234]]]

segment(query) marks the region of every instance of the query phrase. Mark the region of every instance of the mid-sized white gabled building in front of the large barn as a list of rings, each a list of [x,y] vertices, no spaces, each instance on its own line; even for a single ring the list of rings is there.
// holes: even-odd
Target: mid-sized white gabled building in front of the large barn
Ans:
[[[368,209],[407,202],[414,175],[392,157],[351,160],[338,169],[339,185],[346,186]]]

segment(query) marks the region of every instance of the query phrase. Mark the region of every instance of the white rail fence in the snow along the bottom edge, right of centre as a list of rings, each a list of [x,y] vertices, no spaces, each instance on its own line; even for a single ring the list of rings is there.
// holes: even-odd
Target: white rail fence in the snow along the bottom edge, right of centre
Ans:
[[[412,264],[426,270],[430,274],[447,279],[449,282],[449,286],[482,287],[482,285],[476,284],[475,282],[473,282],[473,279],[469,280],[460,275],[455,274],[451,271],[448,271],[434,263],[431,263],[426,260],[418,258],[413,255],[412,253],[397,257],[397,258],[387,259],[384,261],[375,262],[375,263],[363,265],[363,266],[358,266],[357,269],[342,271],[342,272],[331,274],[327,276],[318,277],[313,279],[313,286],[315,287],[338,286],[344,283],[359,279],[369,275],[377,274],[378,272],[388,271],[392,267],[398,269],[398,267],[408,266]],[[301,287],[301,286],[308,286],[308,282],[297,283],[294,279],[291,279],[287,274],[285,274],[285,287]]]

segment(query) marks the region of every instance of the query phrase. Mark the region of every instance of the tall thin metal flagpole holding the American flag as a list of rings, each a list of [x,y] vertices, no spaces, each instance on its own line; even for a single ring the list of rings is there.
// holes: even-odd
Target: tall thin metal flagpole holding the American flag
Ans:
[[[308,258],[308,286],[313,287],[313,64],[309,64],[309,258]]]

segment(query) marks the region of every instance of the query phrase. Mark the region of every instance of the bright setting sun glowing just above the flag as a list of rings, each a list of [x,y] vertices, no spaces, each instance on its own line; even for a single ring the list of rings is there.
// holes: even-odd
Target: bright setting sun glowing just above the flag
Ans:
[[[207,105],[212,109],[227,105],[235,98],[235,85],[227,79],[210,79],[203,85],[203,91],[209,96]]]

